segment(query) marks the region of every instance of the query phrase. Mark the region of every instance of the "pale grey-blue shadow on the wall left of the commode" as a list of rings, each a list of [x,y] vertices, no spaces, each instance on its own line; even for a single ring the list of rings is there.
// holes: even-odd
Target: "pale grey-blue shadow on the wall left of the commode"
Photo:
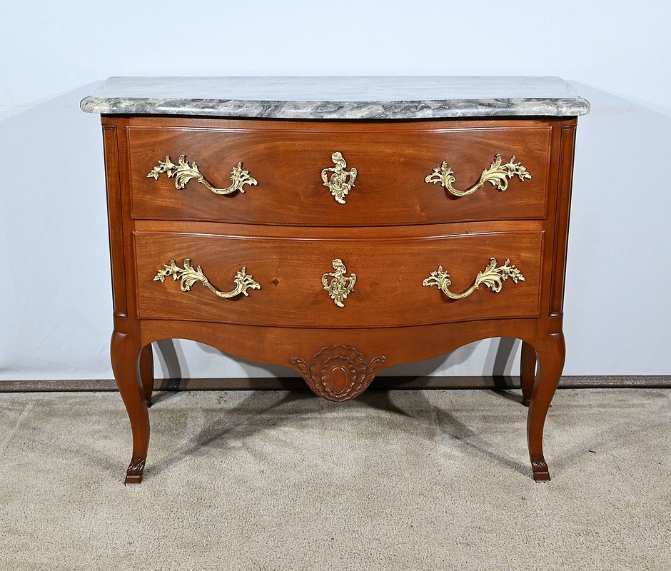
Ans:
[[[111,377],[97,85],[0,113],[0,380]]]

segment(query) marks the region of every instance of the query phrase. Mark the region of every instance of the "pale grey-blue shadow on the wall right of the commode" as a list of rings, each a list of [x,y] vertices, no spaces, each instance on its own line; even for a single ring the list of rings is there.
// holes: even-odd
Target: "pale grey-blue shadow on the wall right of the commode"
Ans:
[[[664,375],[671,370],[671,108],[575,86],[592,113],[577,130],[564,373]]]

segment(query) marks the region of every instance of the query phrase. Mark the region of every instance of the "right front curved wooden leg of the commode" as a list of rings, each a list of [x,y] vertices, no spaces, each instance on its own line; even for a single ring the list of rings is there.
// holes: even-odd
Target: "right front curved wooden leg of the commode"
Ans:
[[[562,333],[553,333],[538,343],[539,372],[533,385],[527,416],[529,456],[533,479],[537,482],[550,480],[548,463],[543,455],[543,426],[564,368],[565,352]]]

